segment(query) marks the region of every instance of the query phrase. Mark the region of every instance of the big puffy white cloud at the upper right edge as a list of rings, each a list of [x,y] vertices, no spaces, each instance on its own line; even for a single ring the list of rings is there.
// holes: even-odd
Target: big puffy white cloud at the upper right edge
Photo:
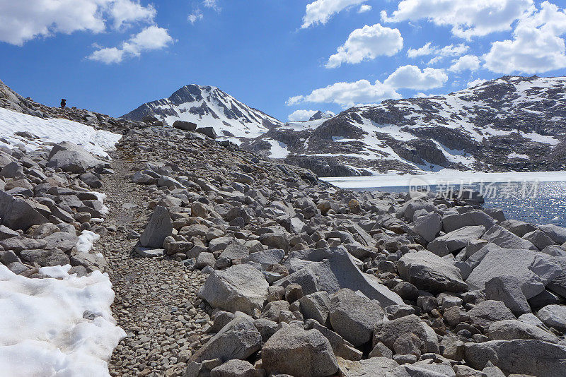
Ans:
[[[548,1],[541,10],[519,20],[512,40],[494,42],[483,56],[497,73],[543,73],[566,67],[566,11]]]

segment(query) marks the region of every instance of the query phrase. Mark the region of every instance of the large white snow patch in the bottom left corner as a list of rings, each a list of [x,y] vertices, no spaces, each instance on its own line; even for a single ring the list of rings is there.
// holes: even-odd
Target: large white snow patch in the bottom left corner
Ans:
[[[29,279],[0,265],[2,376],[110,376],[107,361],[126,336],[110,311],[112,284],[108,274],[76,277],[69,268]]]

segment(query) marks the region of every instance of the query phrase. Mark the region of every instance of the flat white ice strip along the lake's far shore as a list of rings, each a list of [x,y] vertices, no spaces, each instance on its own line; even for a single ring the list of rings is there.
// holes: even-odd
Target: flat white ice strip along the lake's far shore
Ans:
[[[444,169],[443,172],[432,174],[379,174],[374,176],[333,176],[321,177],[323,181],[340,188],[371,188],[371,187],[399,187],[411,184],[473,184],[475,182],[507,182],[507,181],[540,181],[560,182],[566,181],[566,172],[509,172],[484,173],[460,172],[458,170]]]

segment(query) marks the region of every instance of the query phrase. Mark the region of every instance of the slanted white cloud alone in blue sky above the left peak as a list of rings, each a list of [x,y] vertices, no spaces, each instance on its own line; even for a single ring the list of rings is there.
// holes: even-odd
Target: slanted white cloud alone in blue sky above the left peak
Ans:
[[[144,51],[163,49],[171,43],[173,43],[173,38],[169,35],[168,30],[153,25],[133,35],[127,42],[122,42],[120,48],[98,49],[88,56],[88,59],[105,64],[120,63],[127,57],[139,56]]]

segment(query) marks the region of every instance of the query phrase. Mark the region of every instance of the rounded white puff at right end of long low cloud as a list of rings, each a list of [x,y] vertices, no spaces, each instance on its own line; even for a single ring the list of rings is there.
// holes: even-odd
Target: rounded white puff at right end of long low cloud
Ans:
[[[447,80],[448,76],[442,69],[424,68],[421,71],[417,66],[402,66],[391,73],[383,83],[395,89],[428,90],[440,88]]]

